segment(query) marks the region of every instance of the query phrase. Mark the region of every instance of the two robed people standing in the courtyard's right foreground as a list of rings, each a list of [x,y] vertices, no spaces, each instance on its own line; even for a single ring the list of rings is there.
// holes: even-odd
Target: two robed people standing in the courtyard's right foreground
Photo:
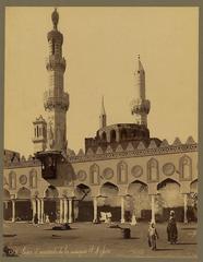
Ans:
[[[158,233],[155,227],[155,223],[151,222],[148,227],[148,246],[152,250],[156,250],[156,240],[158,239]],[[177,243],[178,240],[178,228],[175,218],[175,212],[170,211],[170,216],[167,225],[167,238],[169,243]]]

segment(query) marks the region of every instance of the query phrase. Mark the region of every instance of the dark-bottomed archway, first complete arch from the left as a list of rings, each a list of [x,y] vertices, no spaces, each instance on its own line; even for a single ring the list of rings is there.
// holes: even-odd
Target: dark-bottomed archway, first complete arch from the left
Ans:
[[[16,194],[15,202],[15,221],[32,221],[33,210],[31,203],[31,191],[26,188],[21,188]]]

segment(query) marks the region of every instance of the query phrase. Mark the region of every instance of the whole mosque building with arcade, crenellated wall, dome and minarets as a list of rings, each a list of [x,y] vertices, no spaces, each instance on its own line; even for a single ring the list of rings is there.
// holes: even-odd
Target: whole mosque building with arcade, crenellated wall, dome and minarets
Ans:
[[[198,144],[176,138],[151,138],[147,115],[151,103],[145,94],[145,71],[138,57],[134,71],[133,123],[107,124],[104,98],[99,129],[85,139],[85,151],[68,148],[64,92],[65,59],[63,35],[58,31],[59,14],[52,12],[52,29],[47,35],[48,87],[44,93],[46,117],[34,126],[34,155],[27,159],[4,150],[4,221],[98,223],[100,214],[114,222],[163,222],[169,211],[177,219],[196,219],[193,195],[198,194]]]

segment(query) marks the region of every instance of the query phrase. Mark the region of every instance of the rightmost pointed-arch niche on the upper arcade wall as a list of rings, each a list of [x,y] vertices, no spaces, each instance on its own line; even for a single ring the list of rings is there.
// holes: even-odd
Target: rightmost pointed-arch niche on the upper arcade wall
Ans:
[[[180,180],[192,179],[192,159],[188,155],[183,155],[179,160]]]

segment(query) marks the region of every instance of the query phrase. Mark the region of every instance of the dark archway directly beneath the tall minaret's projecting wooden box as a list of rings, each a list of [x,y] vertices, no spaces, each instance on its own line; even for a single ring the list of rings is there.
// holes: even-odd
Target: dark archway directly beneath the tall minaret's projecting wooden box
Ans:
[[[49,217],[49,222],[59,221],[60,217],[60,203],[59,192],[56,187],[49,186],[45,191],[44,199],[44,214]]]

